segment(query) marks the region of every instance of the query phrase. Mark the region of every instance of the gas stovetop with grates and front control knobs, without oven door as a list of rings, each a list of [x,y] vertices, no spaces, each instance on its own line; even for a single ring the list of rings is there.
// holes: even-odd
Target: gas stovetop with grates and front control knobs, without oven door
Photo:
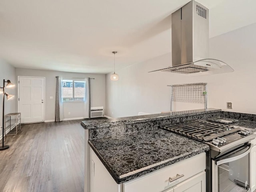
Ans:
[[[204,142],[212,150],[223,152],[253,140],[256,135],[250,130],[242,130],[227,124],[219,124],[206,120],[192,120],[175,124],[160,125],[160,128],[184,135],[188,138]]]

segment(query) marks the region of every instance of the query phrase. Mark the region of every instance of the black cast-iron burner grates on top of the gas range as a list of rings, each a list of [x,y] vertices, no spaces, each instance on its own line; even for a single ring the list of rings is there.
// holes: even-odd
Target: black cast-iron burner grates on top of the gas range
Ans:
[[[200,141],[210,141],[214,138],[222,137],[240,130],[240,128],[234,128],[233,126],[199,120],[165,124],[160,125],[159,127]]]

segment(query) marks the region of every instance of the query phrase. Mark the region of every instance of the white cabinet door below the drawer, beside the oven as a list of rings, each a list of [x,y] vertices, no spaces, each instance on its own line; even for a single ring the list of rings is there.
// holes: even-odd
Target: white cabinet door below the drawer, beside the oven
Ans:
[[[206,192],[206,173],[201,172],[174,186],[174,192]]]

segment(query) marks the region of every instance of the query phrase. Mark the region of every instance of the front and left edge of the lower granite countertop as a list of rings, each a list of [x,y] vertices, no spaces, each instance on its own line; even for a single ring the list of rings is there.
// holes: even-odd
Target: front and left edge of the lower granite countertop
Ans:
[[[107,139],[107,138],[106,138]],[[173,158],[164,160],[162,162],[158,162],[154,165],[151,165],[152,167],[146,169],[146,170],[142,170],[141,171],[137,171],[136,173],[126,173],[124,175],[118,176],[118,174],[116,174],[110,167],[110,165],[108,164],[108,162],[106,160],[104,160],[104,158],[100,155],[100,152],[98,152],[98,150],[94,147],[94,145],[90,142],[90,140],[88,141],[88,144],[90,145],[90,147],[92,148],[92,150],[95,152],[95,154],[98,156],[98,158],[100,159],[100,161],[102,162],[102,164],[105,166],[105,168],[108,170],[108,172],[110,173],[110,175],[112,176],[112,178],[116,181],[117,184],[121,184],[127,181],[130,181],[132,179],[138,178],[140,176],[146,175],[150,172],[154,172],[156,170],[159,170],[161,168],[164,168],[166,166],[170,166],[172,164],[178,163],[182,160],[186,160],[187,158],[190,158],[192,156],[196,156],[198,154],[207,152],[210,150],[210,147],[206,144],[204,144],[205,146],[200,148],[200,149],[196,149],[193,150],[191,152],[186,152],[184,154],[180,154],[178,156],[175,156]],[[134,171],[133,171],[134,172]]]

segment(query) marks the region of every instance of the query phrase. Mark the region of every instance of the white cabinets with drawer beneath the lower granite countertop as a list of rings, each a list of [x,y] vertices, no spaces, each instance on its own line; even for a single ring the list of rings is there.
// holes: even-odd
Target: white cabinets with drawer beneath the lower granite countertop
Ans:
[[[205,153],[122,184],[114,181],[93,150],[91,157],[91,192],[205,192],[206,190]],[[178,179],[170,180],[176,178],[177,174],[180,175]]]

